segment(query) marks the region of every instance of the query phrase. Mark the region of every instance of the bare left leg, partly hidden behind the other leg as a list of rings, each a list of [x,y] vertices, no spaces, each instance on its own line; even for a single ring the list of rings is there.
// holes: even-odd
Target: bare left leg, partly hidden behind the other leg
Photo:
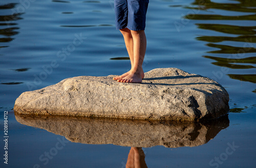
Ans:
[[[134,63],[134,39],[132,36],[132,33],[129,29],[125,28],[125,29],[121,29],[120,32],[123,35],[124,38],[124,42],[125,42],[125,46],[128,52],[128,55],[130,57],[130,61],[131,61],[131,70],[133,69],[133,63]],[[114,77],[114,80],[119,80],[122,79],[126,76],[128,76],[131,73],[131,70],[127,71],[127,73],[124,73],[123,75],[120,75],[118,77]],[[141,78],[144,78],[144,72],[143,69],[141,68]]]

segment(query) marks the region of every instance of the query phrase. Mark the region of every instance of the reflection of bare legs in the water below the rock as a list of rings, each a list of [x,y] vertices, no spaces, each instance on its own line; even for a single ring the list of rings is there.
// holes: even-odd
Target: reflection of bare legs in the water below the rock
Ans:
[[[131,147],[127,158],[126,168],[147,168],[145,154],[142,148]]]

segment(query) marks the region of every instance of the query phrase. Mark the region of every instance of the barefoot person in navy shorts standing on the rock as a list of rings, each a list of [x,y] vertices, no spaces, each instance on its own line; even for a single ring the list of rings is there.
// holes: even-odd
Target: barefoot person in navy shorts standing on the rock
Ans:
[[[123,10],[128,11],[125,13],[125,21],[127,21],[125,23],[127,23],[127,25],[125,28],[119,26],[117,26],[117,28],[119,28],[123,34],[132,67],[127,73],[113,79],[117,80],[118,82],[141,83],[142,79],[144,78],[142,63],[146,50],[146,36],[144,30],[148,0],[127,0],[125,2],[127,3],[125,8],[127,8],[123,8]],[[116,7],[119,6],[120,5],[116,5]],[[120,17],[117,14],[116,16],[116,20],[120,22]],[[118,23],[117,25],[120,24]]]

